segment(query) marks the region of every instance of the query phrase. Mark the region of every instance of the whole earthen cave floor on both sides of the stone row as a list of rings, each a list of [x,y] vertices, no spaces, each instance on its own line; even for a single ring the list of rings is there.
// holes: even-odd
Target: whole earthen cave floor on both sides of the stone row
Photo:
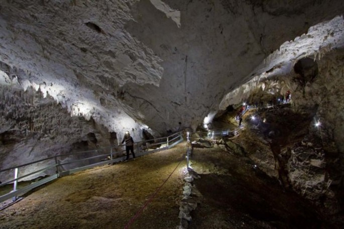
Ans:
[[[124,228],[177,167],[129,227],[176,228],[186,147],[59,178],[1,211],[0,228]],[[191,163],[201,176],[193,182],[191,229],[326,228],[310,205],[248,158],[215,146],[195,149]]]

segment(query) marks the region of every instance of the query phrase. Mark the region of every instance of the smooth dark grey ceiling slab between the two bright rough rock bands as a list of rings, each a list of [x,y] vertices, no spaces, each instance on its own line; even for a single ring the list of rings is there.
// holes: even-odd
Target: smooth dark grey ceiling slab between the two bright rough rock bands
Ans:
[[[125,103],[143,107],[150,127],[158,122],[169,129],[181,122],[195,129],[211,110],[218,110],[226,92],[252,78],[250,73],[268,54],[294,38],[291,34],[301,35],[315,18],[324,19],[318,8],[324,3],[293,1],[291,7],[290,2],[277,2],[166,1],[180,10],[178,27],[161,12],[152,14],[148,1],[140,1],[126,29],[162,58],[164,74],[159,87],[125,85],[124,91],[136,88],[125,94]],[[331,4],[336,5],[327,7]],[[300,9],[304,14],[298,14]],[[138,97],[146,99],[135,100]]]

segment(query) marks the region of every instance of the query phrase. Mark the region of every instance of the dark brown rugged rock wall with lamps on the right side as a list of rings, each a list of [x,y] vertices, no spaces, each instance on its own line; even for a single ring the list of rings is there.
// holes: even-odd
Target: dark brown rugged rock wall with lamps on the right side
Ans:
[[[266,118],[266,123],[253,129],[262,134],[260,142],[268,147],[249,146],[252,140],[246,149],[263,171],[321,206],[326,215],[342,210],[343,83],[344,49],[334,49],[322,58],[300,58],[290,73],[263,78],[247,92],[247,99],[267,103],[291,91],[291,103],[257,111],[260,122]],[[275,163],[270,161],[272,154]]]

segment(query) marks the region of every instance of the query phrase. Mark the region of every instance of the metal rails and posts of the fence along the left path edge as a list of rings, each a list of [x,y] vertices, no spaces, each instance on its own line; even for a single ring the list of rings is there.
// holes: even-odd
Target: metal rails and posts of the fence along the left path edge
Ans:
[[[176,137],[170,139],[173,136],[176,136]],[[174,142],[172,144],[169,144],[169,143],[177,140],[178,138],[179,138],[178,141],[176,141],[176,142]],[[159,141],[161,139],[166,139],[166,141],[157,142],[157,141]],[[152,140],[155,143],[151,144],[149,147],[154,146],[154,145],[163,145],[163,144],[166,144],[166,146],[164,148],[159,148],[159,149],[155,149],[155,150],[152,150],[152,151],[147,151],[147,152],[141,153],[142,151],[141,151],[141,147],[139,146],[139,144],[147,143],[147,142],[150,142]],[[172,134],[172,135],[170,135],[168,137],[161,137],[161,138],[157,138],[157,139],[151,139],[151,140],[145,140],[145,141],[136,142],[136,143],[134,143],[134,145],[137,146],[137,150],[138,150],[137,153],[139,153],[141,155],[145,155],[145,154],[148,154],[148,153],[156,152],[158,150],[163,150],[163,149],[171,148],[171,147],[175,146],[176,144],[180,143],[182,140],[183,140],[182,132],[180,131],[180,132]],[[15,169],[15,179],[12,179],[12,180],[9,180],[9,181],[6,181],[6,182],[0,184],[0,187],[8,185],[8,184],[11,184],[11,183],[14,184],[13,191],[11,191],[11,192],[9,192],[9,193],[7,193],[5,195],[0,196],[0,202],[6,200],[8,198],[11,198],[11,197],[13,197],[13,200],[15,201],[17,199],[17,195],[18,194],[25,194],[26,192],[32,190],[35,187],[38,187],[39,185],[42,185],[42,184],[50,182],[50,181],[52,181],[54,179],[57,179],[61,174],[62,175],[70,174],[70,172],[73,173],[73,172],[76,172],[76,171],[81,171],[83,169],[92,168],[94,166],[100,166],[100,165],[104,165],[104,164],[108,164],[108,163],[119,162],[124,157],[113,158],[113,154],[123,153],[123,152],[125,152],[125,150],[112,152],[112,149],[113,148],[123,147],[123,146],[125,146],[125,145],[110,146],[110,147],[104,147],[104,148],[100,148],[100,149],[96,149],[96,150],[88,150],[88,151],[73,152],[73,153],[69,153],[69,154],[55,155],[55,156],[51,156],[51,157],[48,157],[48,158],[40,159],[40,160],[37,160],[37,161],[33,161],[33,162],[30,162],[30,163],[25,163],[25,164],[22,164],[22,165],[18,165],[18,166],[14,166],[14,167],[10,167],[10,168],[7,168],[7,169],[0,170],[0,172],[6,172],[6,171],[9,171],[9,170]],[[58,159],[57,159],[58,157],[72,156],[72,155],[80,154],[80,153],[92,153],[92,152],[94,153],[94,152],[98,152],[98,151],[102,151],[102,150],[108,150],[108,149],[110,149],[110,153],[96,155],[96,156],[92,156],[92,157],[88,157],[88,158],[82,158],[82,159],[68,161],[68,162],[60,163],[60,162],[58,162]],[[61,171],[61,172],[59,171],[59,168],[61,169],[62,168],[61,166],[63,166],[63,165],[68,165],[68,164],[77,163],[77,162],[86,161],[86,160],[92,160],[92,159],[96,159],[96,158],[102,158],[104,156],[105,157],[109,156],[110,159],[102,161],[102,162],[92,163],[92,164],[89,164],[89,165],[86,165],[86,166],[82,166],[82,167],[76,167],[76,168],[69,169],[69,170],[66,170],[66,171]],[[55,163],[53,165],[47,166],[45,168],[36,170],[36,171],[34,171],[32,173],[25,174],[23,176],[18,177],[19,168],[22,168],[22,167],[28,166],[28,165],[32,165],[32,164],[35,164],[35,163],[43,162],[43,161],[46,161],[46,160],[50,160],[50,159],[55,159]],[[46,177],[46,178],[44,178],[44,179],[42,179],[42,180],[40,180],[38,182],[31,183],[31,184],[29,184],[29,185],[27,185],[27,186],[17,190],[17,182],[19,180],[21,180],[21,179],[23,179],[25,177],[31,176],[33,174],[40,173],[40,172],[46,171],[48,169],[52,169],[54,167],[56,168],[56,174],[50,175],[49,177]]]

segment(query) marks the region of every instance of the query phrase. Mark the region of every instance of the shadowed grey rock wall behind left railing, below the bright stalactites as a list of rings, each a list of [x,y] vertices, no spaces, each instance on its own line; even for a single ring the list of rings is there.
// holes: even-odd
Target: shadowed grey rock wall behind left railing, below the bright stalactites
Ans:
[[[0,86],[0,127],[0,169],[99,149],[109,146],[111,140],[107,128],[93,119],[72,117],[51,96],[44,98],[40,90],[32,87],[23,91],[18,86]],[[31,169],[34,168],[25,167],[20,172],[29,173]],[[0,180],[7,176],[2,173]]]

